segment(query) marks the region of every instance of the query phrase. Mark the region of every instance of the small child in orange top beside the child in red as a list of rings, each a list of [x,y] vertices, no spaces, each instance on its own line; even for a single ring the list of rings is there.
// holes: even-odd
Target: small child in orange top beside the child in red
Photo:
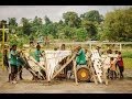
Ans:
[[[116,78],[116,61],[113,57],[110,57],[110,78],[114,79]]]

